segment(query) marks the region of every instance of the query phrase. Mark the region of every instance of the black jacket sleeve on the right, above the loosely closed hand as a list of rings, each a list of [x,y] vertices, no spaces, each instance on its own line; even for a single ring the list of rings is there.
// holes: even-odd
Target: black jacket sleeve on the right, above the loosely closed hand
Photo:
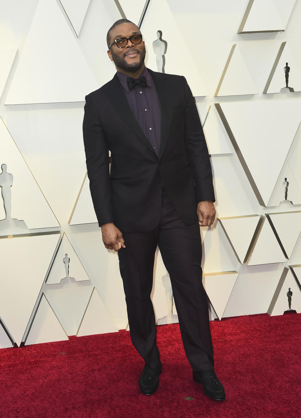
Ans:
[[[215,201],[212,180],[212,168],[207,148],[206,139],[203,133],[199,113],[196,108],[194,97],[184,78],[185,87],[185,146],[194,176],[196,198]]]

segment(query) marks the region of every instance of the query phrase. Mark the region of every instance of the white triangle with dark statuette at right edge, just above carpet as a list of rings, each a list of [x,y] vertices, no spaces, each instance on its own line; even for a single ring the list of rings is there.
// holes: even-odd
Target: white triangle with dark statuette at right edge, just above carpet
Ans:
[[[270,316],[283,315],[295,310],[301,312],[301,289],[290,269],[285,268],[268,308]]]

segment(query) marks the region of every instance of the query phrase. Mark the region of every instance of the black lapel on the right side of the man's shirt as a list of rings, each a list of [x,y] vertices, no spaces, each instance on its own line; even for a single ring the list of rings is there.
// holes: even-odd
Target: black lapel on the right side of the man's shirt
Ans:
[[[162,126],[161,126],[161,144],[160,144],[160,155],[162,157],[163,152],[166,147],[168,134],[171,126],[171,119],[173,115],[173,102],[171,97],[171,90],[168,86],[168,80],[166,79],[165,74],[156,73],[148,69],[153,81],[155,83],[159,101],[161,104],[161,114],[162,114]]]

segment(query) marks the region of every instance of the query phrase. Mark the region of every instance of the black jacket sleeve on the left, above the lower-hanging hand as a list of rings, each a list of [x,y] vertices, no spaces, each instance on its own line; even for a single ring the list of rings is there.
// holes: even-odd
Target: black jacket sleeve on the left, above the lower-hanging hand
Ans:
[[[84,149],[94,210],[99,226],[114,222],[109,171],[109,147],[94,106],[86,96],[83,120]]]

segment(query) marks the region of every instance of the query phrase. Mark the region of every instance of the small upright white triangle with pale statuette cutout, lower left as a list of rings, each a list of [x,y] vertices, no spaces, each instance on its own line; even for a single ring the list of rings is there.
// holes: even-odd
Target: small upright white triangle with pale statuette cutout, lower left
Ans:
[[[73,278],[77,282],[90,280],[67,235],[63,234],[46,285],[59,284],[66,278]]]

